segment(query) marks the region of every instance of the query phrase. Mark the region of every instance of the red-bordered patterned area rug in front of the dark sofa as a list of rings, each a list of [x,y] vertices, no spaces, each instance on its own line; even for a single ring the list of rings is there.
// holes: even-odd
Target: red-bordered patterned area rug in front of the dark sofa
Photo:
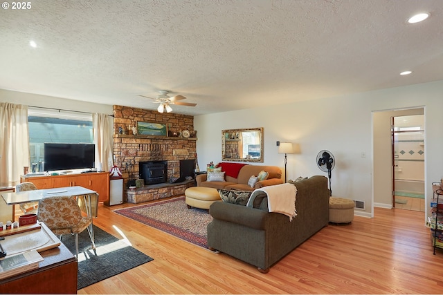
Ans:
[[[114,212],[200,247],[208,248],[206,226],[213,218],[208,210],[188,209],[185,197],[117,209]]]

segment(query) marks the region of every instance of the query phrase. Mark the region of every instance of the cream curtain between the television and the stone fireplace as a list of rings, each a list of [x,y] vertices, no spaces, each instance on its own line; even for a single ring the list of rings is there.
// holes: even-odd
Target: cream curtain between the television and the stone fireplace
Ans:
[[[110,171],[112,160],[112,123],[111,117],[106,114],[93,113],[92,124],[94,130],[94,144],[96,144],[96,168],[102,165],[102,171]],[[98,164],[100,163],[100,164]]]

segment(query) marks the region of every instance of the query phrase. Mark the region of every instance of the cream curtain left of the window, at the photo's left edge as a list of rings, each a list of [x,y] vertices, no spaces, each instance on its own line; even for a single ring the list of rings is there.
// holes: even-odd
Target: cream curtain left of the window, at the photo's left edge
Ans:
[[[0,103],[0,185],[20,183],[29,166],[28,106]]]

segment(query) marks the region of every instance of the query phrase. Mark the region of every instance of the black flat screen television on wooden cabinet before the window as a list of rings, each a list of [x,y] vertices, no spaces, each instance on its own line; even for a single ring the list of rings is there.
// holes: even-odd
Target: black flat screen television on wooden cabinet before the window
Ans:
[[[94,144],[44,144],[44,170],[91,169],[95,160]]]

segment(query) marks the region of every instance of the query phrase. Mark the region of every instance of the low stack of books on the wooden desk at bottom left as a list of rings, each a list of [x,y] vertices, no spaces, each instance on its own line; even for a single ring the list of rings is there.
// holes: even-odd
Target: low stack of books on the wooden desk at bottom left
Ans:
[[[0,280],[36,269],[42,260],[43,257],[37,250],[0,258]]]

